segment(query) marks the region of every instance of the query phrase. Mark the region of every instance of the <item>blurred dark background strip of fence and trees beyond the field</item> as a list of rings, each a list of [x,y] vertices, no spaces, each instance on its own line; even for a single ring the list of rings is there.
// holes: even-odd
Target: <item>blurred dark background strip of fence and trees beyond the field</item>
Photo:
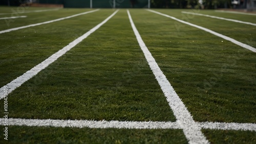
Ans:
[[[0,0],[5,6],[63,8],[256,9],[256,0]]]

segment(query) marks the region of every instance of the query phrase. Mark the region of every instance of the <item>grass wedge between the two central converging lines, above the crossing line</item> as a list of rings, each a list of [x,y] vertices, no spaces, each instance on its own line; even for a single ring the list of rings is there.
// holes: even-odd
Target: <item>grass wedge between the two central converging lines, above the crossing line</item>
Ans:
[[[126,15],[119,12],[13,92],[11,117],[175,121]]]

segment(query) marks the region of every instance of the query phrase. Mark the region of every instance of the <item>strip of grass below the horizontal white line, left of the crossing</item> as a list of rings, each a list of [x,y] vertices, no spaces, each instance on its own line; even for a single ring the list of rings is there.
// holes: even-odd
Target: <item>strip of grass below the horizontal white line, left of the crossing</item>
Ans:
[[[3,126],[0,126],[2,129]],[[89,129],[9,126],[4,143],[187,143],[182,130]]]

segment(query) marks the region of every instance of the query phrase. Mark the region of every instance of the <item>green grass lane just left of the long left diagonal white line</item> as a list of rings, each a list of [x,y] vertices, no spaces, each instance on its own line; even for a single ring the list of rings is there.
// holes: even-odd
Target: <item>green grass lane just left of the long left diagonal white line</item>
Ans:
[[[69,9],[67,11],[63,15],[73,15],[89,10],[73,10],[75,12],[72,14],[69,13]],[[69,20],[1,34],[0,53],[2,61],[0,65],[2,67],[1,75],[5,76],[1,77],[0,84],[4,85],[30,70],[59,49],[91,30],[111,13],[111,11],[95,12]],[[41,13],[37,13],[35,16],[40,16],[38,14]],[[58,14],[57,16],[61,18],[63,15]],[[26,19],[24,21],[26,22]]]

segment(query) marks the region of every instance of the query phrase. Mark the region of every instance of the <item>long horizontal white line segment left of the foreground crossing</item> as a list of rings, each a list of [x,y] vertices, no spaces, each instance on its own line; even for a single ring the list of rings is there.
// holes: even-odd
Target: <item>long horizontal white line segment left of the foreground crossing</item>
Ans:
[[[0,119],[4,125],[5,119]],[[117,128],[117,129],[180,129],[176,122],[120,122],[120,121],[92,121],[92,120],[38,120],[38,119],[8,119],[11,126],[36,127],[75,127],[75,128]]]

